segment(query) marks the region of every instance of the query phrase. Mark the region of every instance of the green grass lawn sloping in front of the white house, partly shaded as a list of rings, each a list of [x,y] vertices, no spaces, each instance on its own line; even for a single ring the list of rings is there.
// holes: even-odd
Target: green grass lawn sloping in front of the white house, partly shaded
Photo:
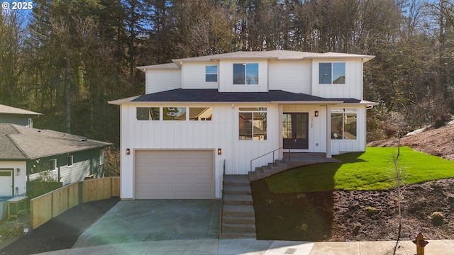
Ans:
[[[301,166],[266,179],[274,193],[333,190],[385,190],[395,186],[393,154],[397,148],[367,147],[366,152],[335,156],[342,163]],[[400,148],[399,164],[404,184],[454,178],[454,162]]]

